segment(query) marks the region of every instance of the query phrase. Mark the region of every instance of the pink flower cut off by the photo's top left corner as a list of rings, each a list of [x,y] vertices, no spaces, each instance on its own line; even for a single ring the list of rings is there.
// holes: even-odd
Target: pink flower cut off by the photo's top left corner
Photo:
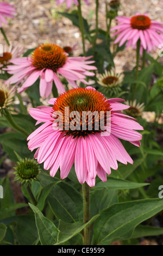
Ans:
[[[8,4],[7,2],[0,3],[0,28],[2,28],[2,22],[8,25],[8,22],[4,16],[13,18],[15,14],[15,8],[12,7],[12,5]]]

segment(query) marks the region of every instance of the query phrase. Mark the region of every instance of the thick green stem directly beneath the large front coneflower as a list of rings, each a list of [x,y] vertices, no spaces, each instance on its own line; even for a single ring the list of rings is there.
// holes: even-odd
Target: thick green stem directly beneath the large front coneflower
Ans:
[[[83,185],[83,222],[90,220],[90,187],[85,182]],[[91,244],[91,227],[84,228],[84,245]]]

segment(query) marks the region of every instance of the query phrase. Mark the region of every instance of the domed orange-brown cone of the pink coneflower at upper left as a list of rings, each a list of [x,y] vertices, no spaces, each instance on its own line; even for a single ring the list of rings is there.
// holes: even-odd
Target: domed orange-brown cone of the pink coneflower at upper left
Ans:
[[[42,44],[32,53],[32,64],[37,70],[52,69],[56,72],[67,59],[65,51],[54,44]]]

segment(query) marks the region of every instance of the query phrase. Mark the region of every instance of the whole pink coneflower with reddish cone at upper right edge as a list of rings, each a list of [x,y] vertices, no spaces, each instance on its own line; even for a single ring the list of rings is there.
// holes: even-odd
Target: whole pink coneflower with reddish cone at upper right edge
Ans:
[[[136,42],[140,39],[141,47],[147,52],[152,48],[158,47],[163,40],[162,22],[149,19],[147,14],[136,13],[133,17],[116,17],[118,25],[111,28],[110,31],[118,30],[113,34],[117,35],[115,44],[120,42],[122,46],[127,41],[126,47],[136,48]]]

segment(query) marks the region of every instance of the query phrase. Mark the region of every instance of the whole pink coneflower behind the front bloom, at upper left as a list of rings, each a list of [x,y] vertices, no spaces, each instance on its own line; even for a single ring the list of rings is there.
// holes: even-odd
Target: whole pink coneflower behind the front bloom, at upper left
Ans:
[[[87,65],[94,63],[91,57],[68,57],[68,54],[59,46],[54,44],[42,44],[36,48],[31,57],[21,57],[10,60],[14,65],[7,66],[9,74],[14,74],[7,80],[7,83],[20,83],[22,87],[18,93],[23,92],[32,86],[40,77],[40,96],[48,97],[52,92],[53,81],[59,93],[65,92],[57,74],[66,78],[74,88],[77,88],[75,81],[79,80],[85,84],[86,76],[94,76],[95,66]],[[87,69],[87,70],[86,70]]]

